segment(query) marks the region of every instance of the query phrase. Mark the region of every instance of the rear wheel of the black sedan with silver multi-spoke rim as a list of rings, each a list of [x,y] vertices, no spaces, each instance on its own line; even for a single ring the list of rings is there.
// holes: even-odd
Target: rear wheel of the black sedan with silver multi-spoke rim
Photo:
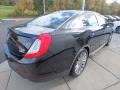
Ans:
[[[73,77],[79,76],[85,69],[88,60],[88,51],[81,49],[75,57],[75,62],[72,66],[70,75]]]

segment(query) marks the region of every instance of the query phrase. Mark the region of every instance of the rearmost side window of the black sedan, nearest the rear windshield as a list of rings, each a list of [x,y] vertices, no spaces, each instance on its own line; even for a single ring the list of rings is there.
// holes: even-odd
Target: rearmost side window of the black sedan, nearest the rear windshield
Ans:
[[[79,29],[83,26],[87,26],[89,23],[84,16],[78,16],[66,23],[62,28],[64,29]]]

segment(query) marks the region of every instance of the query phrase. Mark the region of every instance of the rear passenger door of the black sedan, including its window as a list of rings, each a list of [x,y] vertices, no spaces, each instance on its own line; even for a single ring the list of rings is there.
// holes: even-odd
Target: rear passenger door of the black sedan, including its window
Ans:
[[[89,22],[88,30],[92,31],[88,43],[90,52],[93,52],[100,47],[101,27],[99,27],[96,16],[93,13],[87,13],[86,18]]]

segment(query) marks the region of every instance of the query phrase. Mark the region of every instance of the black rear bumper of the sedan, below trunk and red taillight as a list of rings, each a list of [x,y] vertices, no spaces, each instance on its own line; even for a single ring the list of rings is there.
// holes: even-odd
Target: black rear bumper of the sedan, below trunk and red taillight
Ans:
[[[31,64],[20,63],[20,60],[17,60],[9,53],[7,47],[5,47],[5,56],[9,66],[20,76],[33,82],[44,82],[69,73],[73,62],[71,51],[70,49],[44,60],[43,62]]]

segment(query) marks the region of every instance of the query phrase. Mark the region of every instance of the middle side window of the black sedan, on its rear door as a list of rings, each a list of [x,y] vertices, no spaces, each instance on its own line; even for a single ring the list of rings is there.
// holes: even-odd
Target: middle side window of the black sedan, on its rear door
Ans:
[[[87,14],[86,16],[89,22],[89,26],[98,26],[98,22],[94,14]]]

